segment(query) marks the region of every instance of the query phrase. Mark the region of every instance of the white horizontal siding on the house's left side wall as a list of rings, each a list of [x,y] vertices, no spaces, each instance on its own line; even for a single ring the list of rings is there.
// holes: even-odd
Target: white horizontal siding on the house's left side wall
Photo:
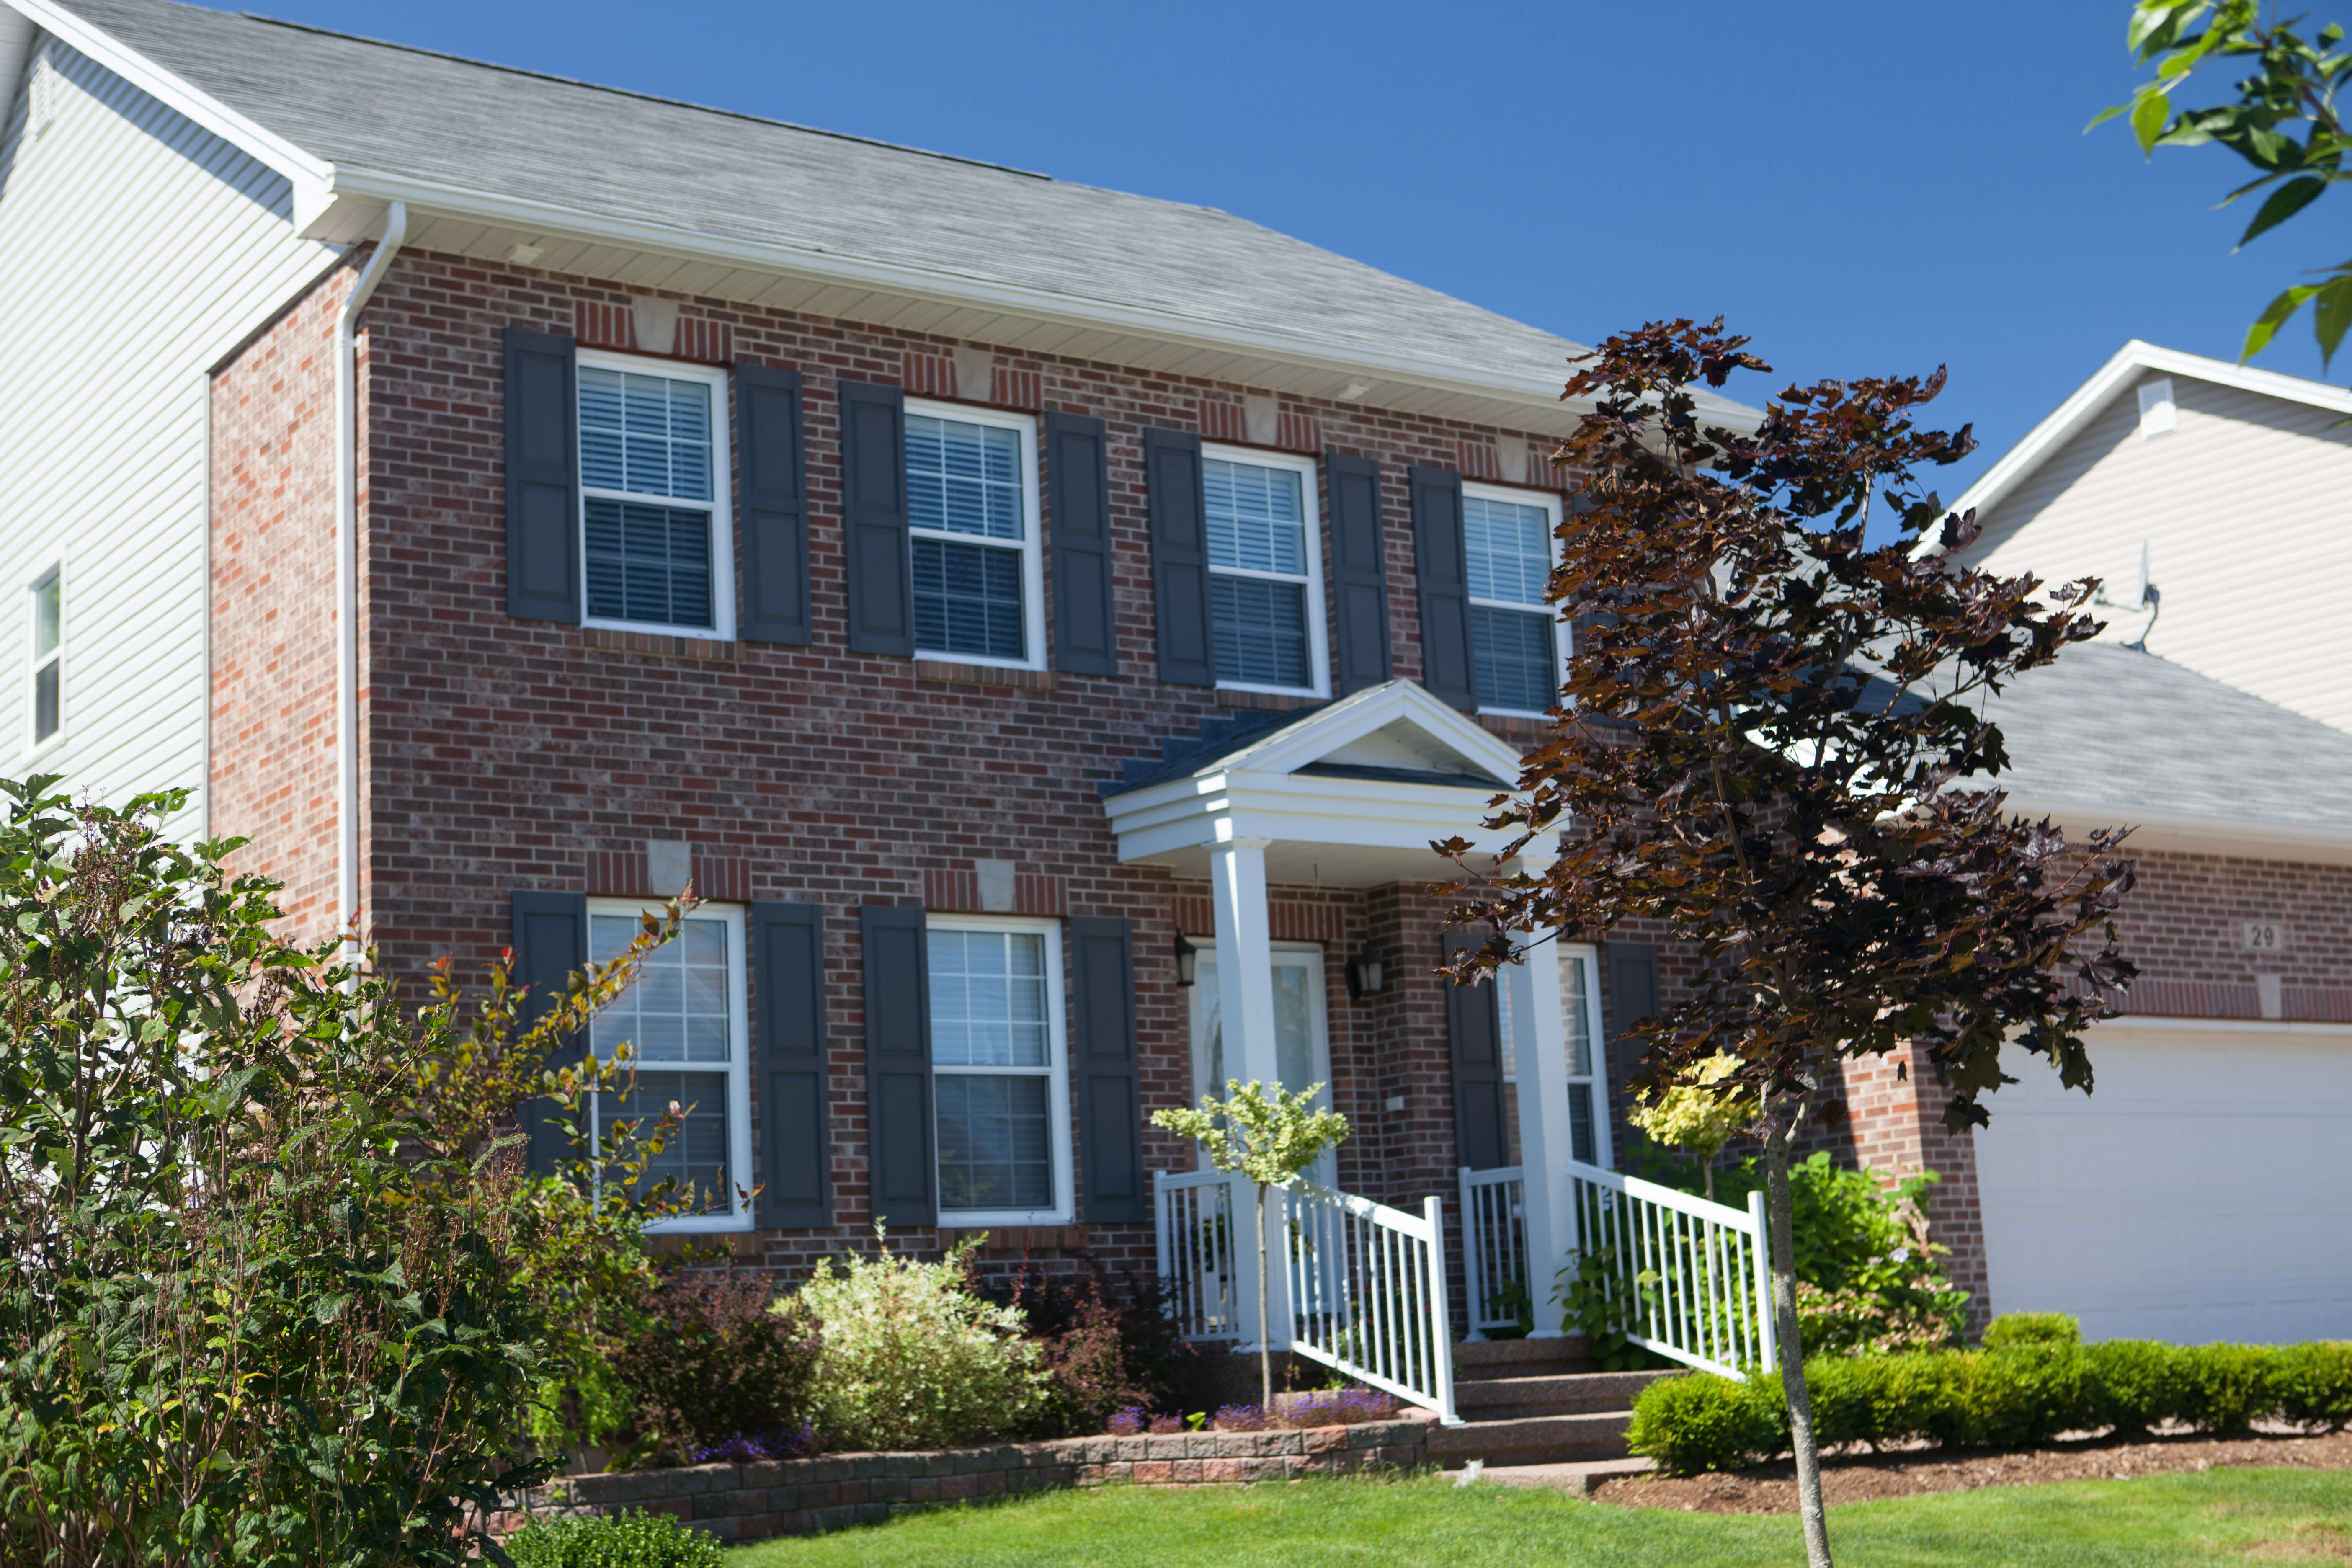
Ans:
[[[111,804],[186,788],[172,830],[193,837],[205,371],[334,252],[294,235],[285,176],[94,61],[49,40],[31,71],[0,127],[0,574],[31,583],[61,562],[71,597],[68,712],[40,769]],[[327,423],[303,440],[322,468]],[[332,637],[325,604],[315,635]],[[0,639],[0,726],[28,752],[31,637]]]

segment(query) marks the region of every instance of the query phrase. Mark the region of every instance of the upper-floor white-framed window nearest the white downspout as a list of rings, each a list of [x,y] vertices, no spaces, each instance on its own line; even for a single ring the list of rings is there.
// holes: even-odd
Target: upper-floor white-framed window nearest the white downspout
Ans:
[[[727,371],[581,353],[588,625],[734,637]]]

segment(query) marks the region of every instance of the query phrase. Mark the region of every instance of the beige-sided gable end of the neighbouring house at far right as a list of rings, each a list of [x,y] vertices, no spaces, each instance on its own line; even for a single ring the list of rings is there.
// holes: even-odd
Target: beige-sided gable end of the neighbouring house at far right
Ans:
[[[1964,559],[2098,576],[2107,637],[2352,729],[2347,418],[2343,388],[2126,343],[1959,498]]]

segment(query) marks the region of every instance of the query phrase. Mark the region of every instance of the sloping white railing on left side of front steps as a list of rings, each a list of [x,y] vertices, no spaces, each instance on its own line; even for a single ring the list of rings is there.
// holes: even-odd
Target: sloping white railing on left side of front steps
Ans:
[[[1411,1215],[1305,1178],[1282,1197],[1291,1349],[1454,1425],[1444,1204]]]

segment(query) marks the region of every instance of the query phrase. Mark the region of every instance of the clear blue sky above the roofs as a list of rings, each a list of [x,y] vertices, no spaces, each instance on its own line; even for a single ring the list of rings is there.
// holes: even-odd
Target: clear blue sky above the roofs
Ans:
[[[2352,254],[2338,195],[2232,256],[2232,158],[2082,134],[2126,0],[247,2],[1223,207],[1578,341],[1724,313],[1778,371],[1745,397],[1950,364],[1985,447],[1945,498],[2126,339],[2237,357]],[[2303,324],[2258,364],[2321,374]]]

